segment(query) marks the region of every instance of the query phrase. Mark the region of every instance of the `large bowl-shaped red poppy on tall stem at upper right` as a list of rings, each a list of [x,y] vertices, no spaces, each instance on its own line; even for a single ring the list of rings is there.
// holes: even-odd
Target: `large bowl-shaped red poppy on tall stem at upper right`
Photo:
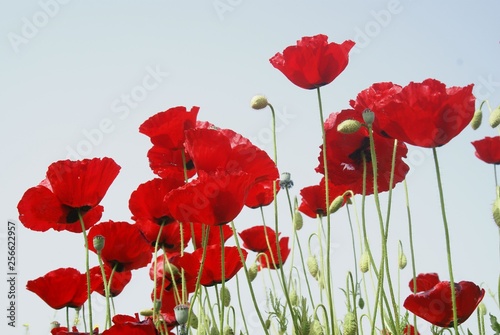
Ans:
[[[442,146],[457,136],[475,111],[473,85],[446,87],[435,79],[411,82],[383,108],[380,127],[392,138],[424,148]]]

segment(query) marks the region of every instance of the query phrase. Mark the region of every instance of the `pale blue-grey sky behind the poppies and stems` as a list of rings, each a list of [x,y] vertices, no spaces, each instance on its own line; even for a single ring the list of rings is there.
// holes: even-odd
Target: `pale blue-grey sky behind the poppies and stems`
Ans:
[[[484,99],[493,108],[500,104],[499,1],[40,0],[2,4],[3,269],[7,222],[18,224],[17,329],[7,327],[2,316],[1,329],[7,334],[24,333],[23,324],[29,324],[30,334],[46,334],[52,320],[64,320],[62,311],[55,313],[25,290],[28,280],[58,267],[84,269],[81,236],[33,232],[18,221],[17,203],[28,188],[44,179],[54,161],[112,157],[122,169],[102,202],[102,220],[130,220],[130,193],[154,178],[146,157],[149,140],[138,132],[144,120],[170,107],[199,106],[199,120],[231,128],[272,154],[269,110],[249,107],[253,95],[265,94],[278,113],[278,165],[280,171],[292,174],[292,196],[319,181],[320,175],[314,172],[321,143],[316,94],[291,84],[269,63],[276,52],[302,36],[322,33],[330,41],[357,43],[347,69],[322,90],[327,114],[347,108],[350,99],[374,82],[406,85],[426,78],[448,86],[474,83],[478,105]],[[465,129],[438,149],[455,279],[493,289],[500,268],[498,228],[491,219],[493,168],[474,157],[470,142],[495,135],[495,130],[483,124],[477,131]],[[448,279],[431,151],[410,147],[407,163],[417,271],[438,272]],[[280,200],[280,206],[286,205],[285,198]],[[373,222],[370,232],[377,245],[377,222],[372,218],[375,215],[368,216],[368,223]],[[289,222],[283,221],[282,234],[286,235]],[[345,211],[333,222],[336,283],[343,283],[346,269],[353,270]],[[401,185],[394,191],[391,222],[391,251],[402,240],[409,255]],[[258,213],[250,210],[236,220],[240,229],[259,223]],[[307,229],[315,224],[306,220],[304,241]],[[401,278],[404,297],[409,293],[409,267]],[[145,269],[135,271],[123,299],[115,301],[117,312],[131,314],[148,308],[150,284]],[[0,281],[3,313],[7,291],[6,281]],[[492,313],[500,315],[489,296],[485,302]]]

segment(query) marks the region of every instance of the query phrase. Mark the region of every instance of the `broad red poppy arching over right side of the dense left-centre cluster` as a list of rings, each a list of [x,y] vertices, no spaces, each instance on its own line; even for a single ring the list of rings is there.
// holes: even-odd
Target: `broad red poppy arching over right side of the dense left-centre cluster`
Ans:
[[[186,150],[198,172],[243,171],[251,175],[253,182],[246,206],[267,206],[274,200],[273,182],[279,178],[276,164],[265,151],[240,134],[230,129],[191,129],[186,132]],[[278,190],[276,187],[276,192]]]

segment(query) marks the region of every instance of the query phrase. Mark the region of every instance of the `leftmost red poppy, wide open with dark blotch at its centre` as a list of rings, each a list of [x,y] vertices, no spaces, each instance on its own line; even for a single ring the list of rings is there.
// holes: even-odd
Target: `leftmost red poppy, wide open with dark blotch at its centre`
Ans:
[[[88,229],[101,218],[99,205],[120,166],[111,158],[58,161],[40,185],[28,189],[17,206],[19,220],[36,231],[81,233],[79,214]]]

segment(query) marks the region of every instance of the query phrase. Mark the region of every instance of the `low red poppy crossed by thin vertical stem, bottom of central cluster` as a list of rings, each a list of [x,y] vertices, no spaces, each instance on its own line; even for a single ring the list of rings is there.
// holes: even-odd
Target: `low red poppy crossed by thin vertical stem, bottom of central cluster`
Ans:
[[[247,257],[246,250],[241,250],[243,256]],[[203,248],[198,248],[193,252],[193,255],[198,257],[201,262],[203,257]],[[221,266],[221,246],[209,245],[207,246],[205,263],[201,273],[200,284],[203,286],[213,286],[222,283],[222,266]],[[237,247],[224,247],[224,278],[225,281],[233,278],[238,271],[243,267],[241,262],[240,253]]]

